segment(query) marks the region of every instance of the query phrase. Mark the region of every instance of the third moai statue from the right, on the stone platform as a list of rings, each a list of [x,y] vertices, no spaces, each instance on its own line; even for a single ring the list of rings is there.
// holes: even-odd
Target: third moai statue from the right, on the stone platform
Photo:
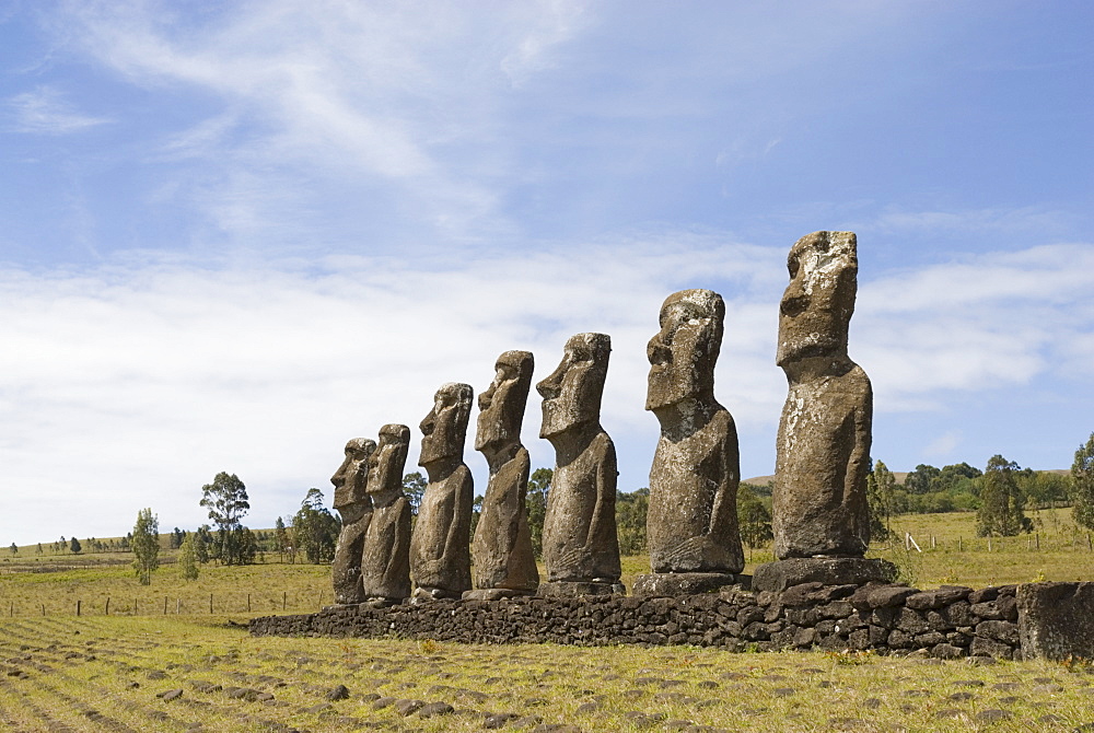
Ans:
[[[536,385],[543,396],[539,437],[555,446],[555,476],[544,521],[547,582],[539,595],[622,593],[616,537],[616,453],[601,427],[601,397],[612,339],[578,334],[562,362]]]

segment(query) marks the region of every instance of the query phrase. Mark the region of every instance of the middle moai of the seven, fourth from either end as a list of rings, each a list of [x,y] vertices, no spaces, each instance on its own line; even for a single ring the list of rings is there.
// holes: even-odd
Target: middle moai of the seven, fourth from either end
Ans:
[[[539,586],[525,509],[532,464],[521,445],[521,423],[532,388],[532,354],[505,351],[494,369],[493,382],[479,395],[475,450],[486,456],[490,479],[472,543],[475,590],[465,593],[465,598],[532,595]]]

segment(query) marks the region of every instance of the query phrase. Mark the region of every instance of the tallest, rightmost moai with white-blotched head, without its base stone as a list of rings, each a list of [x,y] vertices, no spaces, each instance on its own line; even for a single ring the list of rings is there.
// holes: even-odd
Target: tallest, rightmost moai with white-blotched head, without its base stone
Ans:
[[[858,255],[851,232],[814,232],[787,261],[777,363],[790,391],[779,423],[772,530],[779,559],[862,557],[873,396],[847,356]]]

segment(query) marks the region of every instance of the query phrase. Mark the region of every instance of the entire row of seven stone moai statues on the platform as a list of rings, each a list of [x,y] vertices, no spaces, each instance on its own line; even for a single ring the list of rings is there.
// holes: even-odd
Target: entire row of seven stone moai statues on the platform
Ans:
[[[779,590],[808,580],[881,579],[884,569],[863,559],[872,393],[847,354],[858,274],[854,234],[802,237],[788,268],[777,357],[790,386],[772,507],[778,560],[757,569],[753,585]],[[714,398],[724,316],[718,293],[674,293],[648,347],[645,408],[657,418],[661,438],[650,472],[651,572],[637,578],[637,594],[698,593],[745,581],[737,434]],[[625,592],[615,446],[600,422],[610,351],[608,336],[578,334],[558,368],[536,385],[543,397],[539,435],[556,452],[543,530],[546,582],[539,582],[533,555],[525,505],[531,463],[521,444],[533,357],[507,351],[479,395],[475,449],[487,459],[489,481],[474,539],[474,490],[463,459],[469,385],[443,385],[421,421],[418,463],[429,484],[414,523],[401,490],[409,428],[384,426],[379,443],[354,439],[346,445],[346,461],[331,478],[344,522],[334,562],[337,602],[389,604],[411,591],[421,600]]]

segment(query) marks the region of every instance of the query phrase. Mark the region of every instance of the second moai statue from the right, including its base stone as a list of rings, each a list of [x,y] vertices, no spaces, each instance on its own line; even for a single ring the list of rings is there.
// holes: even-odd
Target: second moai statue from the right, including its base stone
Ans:
[[[661,331],[647,350],[645,409],[661,422],[661,440],[647,520],[653,574],[636,580],[639,595],[701,593],[741,581],[737,431],[714,399],[724,316],[715,292],[674,293],[661,306]]]

